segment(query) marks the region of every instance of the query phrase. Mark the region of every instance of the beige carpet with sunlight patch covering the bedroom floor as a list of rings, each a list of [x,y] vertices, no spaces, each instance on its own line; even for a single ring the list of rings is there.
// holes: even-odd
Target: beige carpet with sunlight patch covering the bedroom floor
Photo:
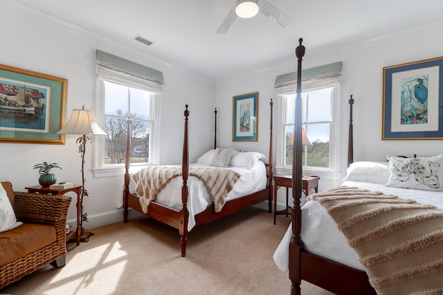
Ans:
[[[123,219],[123,217],[122,217]],[[43,267],[1,290],[9,294],[290,294],[273,262],[290,218],[247,208],[188,235],[180,256],[176,229],[142,218],[94,229],[68,244],[66,266]],[[303,294],[331,294],[302,283]]]

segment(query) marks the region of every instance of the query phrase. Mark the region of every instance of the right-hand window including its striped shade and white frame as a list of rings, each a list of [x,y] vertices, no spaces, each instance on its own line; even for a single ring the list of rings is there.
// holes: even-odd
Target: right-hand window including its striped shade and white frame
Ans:
[[[310,142],[302,145],[303,170],[339,170],[338,91],[341,66],[342,62],[336,62],[302,71],[302,129]],[[282,98],[277,164],[281,168],[291,168],[297,73],[278,75],[274,87]]]

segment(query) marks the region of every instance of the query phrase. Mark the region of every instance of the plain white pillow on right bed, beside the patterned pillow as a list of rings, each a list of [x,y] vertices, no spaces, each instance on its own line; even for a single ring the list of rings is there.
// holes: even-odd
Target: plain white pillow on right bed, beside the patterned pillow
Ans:
[[[360,181],[371,184],[386,184],[389,180],[389,162],[359,161],[346,169],[343,181]]]

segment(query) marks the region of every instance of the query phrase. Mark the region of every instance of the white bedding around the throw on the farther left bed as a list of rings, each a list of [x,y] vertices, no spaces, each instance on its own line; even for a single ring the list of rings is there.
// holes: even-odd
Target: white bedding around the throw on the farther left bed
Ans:
[[[180,167],[174,165],[174,167]],[[212,167],[207,163],[192,163],[190,167]],[[262,161],[256,161],[252,168],[235,167],[230,166],[228,168],[235,172],[238,172],[242,177],[239,178],[235,184],[233,190],[228,193],[226,201],[230,199],[236,199],[237,197],[243,197],[250,195],[259,190],[266,188],[266,166]],[[183,179],[181,177],[175,177],[170,183],[161,190],[159,195],[156,196],[154,202],[163,204],[170,208],[181,210],[181,187],[183,186]],[[135,193],[135,181],[130,177],[129,192]],[[206,209],[213,201],[210,199],[208,190],[204,186],[203,182],[197,177],[188,177],[188,231],[195,226],[195,215],[201,213]],[[149,207],[147,209],[149,211]]]

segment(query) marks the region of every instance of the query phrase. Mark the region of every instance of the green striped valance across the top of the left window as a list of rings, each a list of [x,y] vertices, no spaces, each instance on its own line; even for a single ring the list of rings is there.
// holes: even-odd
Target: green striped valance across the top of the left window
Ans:
[[[148,80],[157,84],[165,84],[163,80],[163,73],[156,69],[151,69],[147,66],[142,66],[136,62],[125,60],[122,57],[111,55],[103,51],[96,51],[97,65],[105,69],[116,71],[118,73],[125,73],[136,78]]]

